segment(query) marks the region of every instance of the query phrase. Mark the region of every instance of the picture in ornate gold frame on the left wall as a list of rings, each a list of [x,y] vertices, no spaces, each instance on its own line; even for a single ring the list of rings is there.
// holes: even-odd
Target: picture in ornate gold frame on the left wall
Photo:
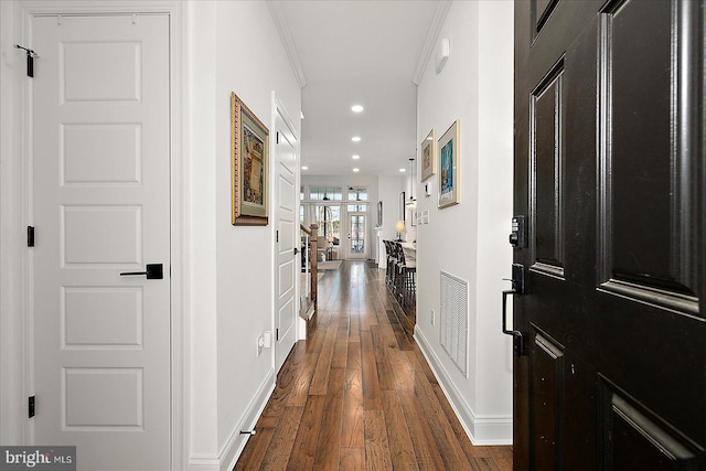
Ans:
[[[231,93],[231,224],[266,226],[269,207],[269,130]]]

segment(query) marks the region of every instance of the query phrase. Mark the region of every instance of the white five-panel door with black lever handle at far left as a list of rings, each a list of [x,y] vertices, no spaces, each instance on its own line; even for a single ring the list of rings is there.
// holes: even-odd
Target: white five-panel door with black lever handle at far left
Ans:
[[[34,443],[167,470],[169,18],[31,21]],[[163,278],[121,276],[146,264]]]

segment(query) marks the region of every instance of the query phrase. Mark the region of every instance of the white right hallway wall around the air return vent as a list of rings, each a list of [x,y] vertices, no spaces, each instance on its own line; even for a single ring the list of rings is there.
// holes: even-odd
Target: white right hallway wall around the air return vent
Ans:
[[[417,226],[417,339],[471,440],[511,443],[512,346],[501,333],[501,291],[512,264],[512,2],[453,2],[441,38],[451,54],[440,74],[431,57],[419,85],[417,142],[459,120],[461,203],[438,210],[438,175],[430,197],[418,183],[429,224]],[[468,377],[440,345],[440,270],[469,282]]]

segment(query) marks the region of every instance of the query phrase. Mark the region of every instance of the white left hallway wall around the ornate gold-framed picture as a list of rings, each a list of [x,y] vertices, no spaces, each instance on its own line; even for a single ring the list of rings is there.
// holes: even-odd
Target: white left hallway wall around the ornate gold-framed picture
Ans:
[[[231,92],[270,131],[271,92],[292,117],[300,116],[301,92],[265,2],[190,1],[188,41],[194,293],[189,459],[226,469],[244,445],[239,431],[254,425],[275,379],[271,350],[257,356],[255,347],[257,336],[272,330],[274,213],[266,227],[231,225]],[[299,132],[299,119],[295,126]]]

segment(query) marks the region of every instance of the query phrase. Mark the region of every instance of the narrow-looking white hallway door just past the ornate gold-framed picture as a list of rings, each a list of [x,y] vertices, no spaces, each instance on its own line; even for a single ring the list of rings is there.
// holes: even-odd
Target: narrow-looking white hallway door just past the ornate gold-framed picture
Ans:
[[[279,371],[297,341],[297,278],[299,268],[295,248],[299,248],[296,169],[297,138],[291,124],[277,110],[275,165],[277,180],[277,311],[275,319],[275,371]]]

